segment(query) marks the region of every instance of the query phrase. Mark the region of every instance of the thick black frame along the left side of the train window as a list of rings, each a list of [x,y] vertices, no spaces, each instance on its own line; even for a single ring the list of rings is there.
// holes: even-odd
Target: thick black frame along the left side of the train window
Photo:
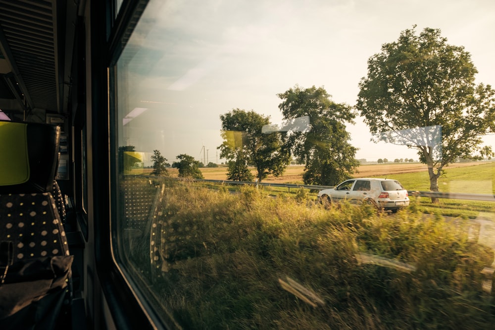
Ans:
[[[140,293],[139,285],[126,276],[119,266],[118,254],[113,254],[116,241],[112,232],[115,223],[116,199],[112,195],[116,188],[115,178],[115,63],[121,54],[128,36],[132,33],[148,0],[123,1],[118,14],[116,0],[91,2],[91,135],[92,152],[88,155],[92,166],[93,201],[92,224],[95,239],[95,261],[105,302],[116,329],[169,329],[165,326],[153,306]],[[105,33],[101,33],[104,31]],[[109,143],[105,143],[108,141]],[[104,170],[108,169],[108,170]]]

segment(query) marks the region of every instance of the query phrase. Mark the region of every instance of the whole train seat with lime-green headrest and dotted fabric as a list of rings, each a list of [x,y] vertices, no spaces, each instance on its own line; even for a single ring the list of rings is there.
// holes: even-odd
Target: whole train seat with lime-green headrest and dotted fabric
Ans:
[[[59,136],[57,126],[0,121],[1,329],[69,329],[73,256],[52,196]]]

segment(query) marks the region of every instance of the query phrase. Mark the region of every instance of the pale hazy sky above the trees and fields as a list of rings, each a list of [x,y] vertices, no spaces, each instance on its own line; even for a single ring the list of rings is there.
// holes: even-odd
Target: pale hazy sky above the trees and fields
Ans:
[[[495,86],[494,17],[492,0],[151,1],[119,60],[127,70],[119,111],[128,117],[119,143],[171,161],[182,153],[224,161],[221,114],[241,108],[281,123],[277,94],[295,85],[354,105],[368,58],[413,25],[465,47],[477,83]],[[355,122],[347,126],[355,158],[418,159],[414,149],[371,142],[362,118]]]

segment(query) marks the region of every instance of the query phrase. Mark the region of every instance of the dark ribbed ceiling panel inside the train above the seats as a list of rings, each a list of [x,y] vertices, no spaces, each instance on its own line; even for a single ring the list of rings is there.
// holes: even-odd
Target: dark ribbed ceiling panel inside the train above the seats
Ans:
[[[76,2],[79,1],[0,0],[0,79],[20,105],[20,109],[6,109],[8,103],[0,100],[3,111],[65,111]],[[3,72],[5,67],[9,72]]]

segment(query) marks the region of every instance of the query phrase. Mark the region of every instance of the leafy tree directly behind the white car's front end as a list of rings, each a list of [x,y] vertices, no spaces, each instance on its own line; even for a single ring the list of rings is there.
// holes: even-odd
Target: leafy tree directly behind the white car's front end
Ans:
[[[349,105],[333,102],[323,87],[302,89],[296,85],[278,96],[288,122],[287,143],[305,164],[302,178],[306,185],[333,186],[357,171],[357,148],[348,142],[346,131],[346,122],[352,123],[355,117]],[[291,126],[301,117],[308,118],[306,127]]]

